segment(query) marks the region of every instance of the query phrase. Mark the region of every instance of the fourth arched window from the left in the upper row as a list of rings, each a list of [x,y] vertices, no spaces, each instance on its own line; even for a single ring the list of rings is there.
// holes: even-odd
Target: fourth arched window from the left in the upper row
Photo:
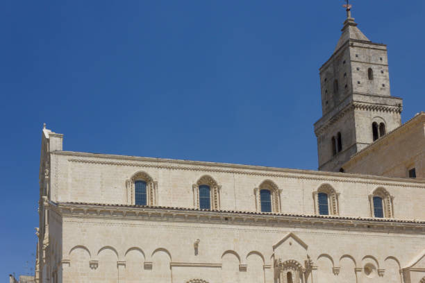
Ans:
[[[313,200],[315,201],[315,213],[319,215],[338,215],[338,194],[329,184],[324,184],[313,191]]]

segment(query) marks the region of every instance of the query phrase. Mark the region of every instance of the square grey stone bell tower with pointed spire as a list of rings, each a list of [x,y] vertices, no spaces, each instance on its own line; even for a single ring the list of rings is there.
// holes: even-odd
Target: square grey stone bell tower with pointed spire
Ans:
[[[351,6],[345,7],[340,40],[319,69],[319,171],[343,171],[352,155],[401,126],[403,101],[390,94],[387,46],[370,41],[351,17]]]

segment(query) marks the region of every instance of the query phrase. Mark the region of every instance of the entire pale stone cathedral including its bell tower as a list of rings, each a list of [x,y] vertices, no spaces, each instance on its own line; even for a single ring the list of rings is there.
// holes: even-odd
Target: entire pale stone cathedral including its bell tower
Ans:
[[[319,171],[64,151],[44,126],[35,281],[425,283],[425,113],[401,124],[347,9]]]

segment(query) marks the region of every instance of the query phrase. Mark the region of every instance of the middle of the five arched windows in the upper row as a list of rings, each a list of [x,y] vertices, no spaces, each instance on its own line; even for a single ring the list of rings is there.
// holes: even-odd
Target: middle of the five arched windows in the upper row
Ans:
[[[254,189],[258,212],[281,212],[281,190],[272,180],[265,180]]]

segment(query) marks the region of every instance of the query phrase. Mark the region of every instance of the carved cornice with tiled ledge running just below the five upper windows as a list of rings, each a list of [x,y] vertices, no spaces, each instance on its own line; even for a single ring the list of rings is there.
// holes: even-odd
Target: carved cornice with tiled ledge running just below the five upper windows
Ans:
[[[235,212],[224,210],[189,209],[179,207],[139,207],[131,205],[101,205],[82,203],[52,204],[63,218],[116,219],[118,221],[167,221],[191,223],[221,223],[230,225],[329,228],[331,230],[359,230],[425,234],[425,221],[389,218],[360,218],[263,212]]]

